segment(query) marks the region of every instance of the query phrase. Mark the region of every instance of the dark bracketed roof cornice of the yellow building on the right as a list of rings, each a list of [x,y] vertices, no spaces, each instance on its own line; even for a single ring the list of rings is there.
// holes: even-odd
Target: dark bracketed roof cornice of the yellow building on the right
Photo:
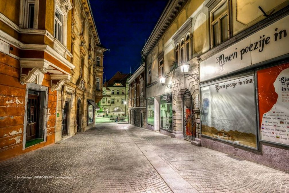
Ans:
[[[159,41],[160,37],[164,34],[168,26],[172,23],[172,21],[177,16],[178,12],[184,6],[187,0],[170,0],[166,5],[166,8],[162,12],[160,19],[155,25],[151,35],[147,43],[144,45],[142,49],[142,54],[147,56],[149,52],[153,49],[155,44]]]

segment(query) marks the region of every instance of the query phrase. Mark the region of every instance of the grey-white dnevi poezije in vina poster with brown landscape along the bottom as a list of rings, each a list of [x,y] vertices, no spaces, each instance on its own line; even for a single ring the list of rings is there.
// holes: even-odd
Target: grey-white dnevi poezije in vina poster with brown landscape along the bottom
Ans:
[[[201,86],[201,133],[257,148],[254,76]]]

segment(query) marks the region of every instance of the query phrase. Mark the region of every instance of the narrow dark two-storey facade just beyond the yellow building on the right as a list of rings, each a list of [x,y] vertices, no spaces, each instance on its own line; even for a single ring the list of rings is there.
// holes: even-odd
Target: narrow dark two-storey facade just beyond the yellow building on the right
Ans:
[[[146,128],[146,100],[145,100],[145,76],[144,65],[141,65],[136,72],[127,80],[129,84],[129,97],[128,97],[128,111],[129,123]]]

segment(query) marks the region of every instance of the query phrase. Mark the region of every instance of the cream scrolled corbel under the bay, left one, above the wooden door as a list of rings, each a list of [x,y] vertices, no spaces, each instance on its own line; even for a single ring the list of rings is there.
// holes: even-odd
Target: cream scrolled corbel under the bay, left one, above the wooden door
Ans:
[[[22,85],[33,82],[36,79],[36,84],[41,85],[44,74],[47,73],[49,64],[40,60],[20,60],[20,83]]]

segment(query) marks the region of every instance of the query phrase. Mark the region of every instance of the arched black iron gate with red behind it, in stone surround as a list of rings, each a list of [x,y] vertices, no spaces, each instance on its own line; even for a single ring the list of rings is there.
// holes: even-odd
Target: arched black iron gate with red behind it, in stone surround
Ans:
[[[192,141],[196,138],[196,118],[193,108],[194,105],[192,95],[189,90],[186,90],[183,96],[183,133],[184,139],[188,141]]]

